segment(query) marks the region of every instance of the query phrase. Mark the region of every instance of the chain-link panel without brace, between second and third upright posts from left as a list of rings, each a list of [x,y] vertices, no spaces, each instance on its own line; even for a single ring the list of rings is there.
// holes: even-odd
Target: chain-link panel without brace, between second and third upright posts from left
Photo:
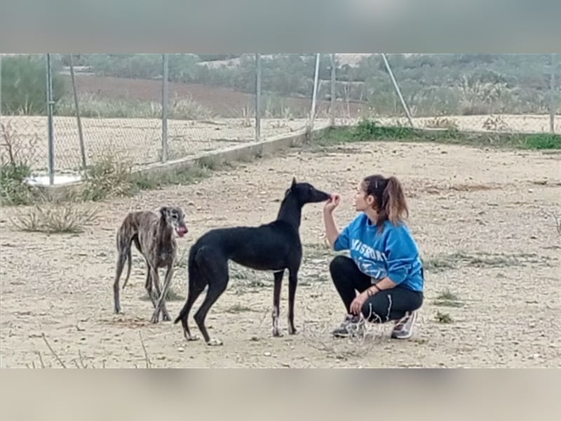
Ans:
[[[255,55],[170,55],[169,98],[170,159],[252,142]]]

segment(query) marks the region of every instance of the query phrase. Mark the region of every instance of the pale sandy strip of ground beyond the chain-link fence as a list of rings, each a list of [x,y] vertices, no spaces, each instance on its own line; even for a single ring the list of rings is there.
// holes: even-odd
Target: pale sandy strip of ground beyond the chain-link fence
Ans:
[[[461,130],[517,131],[535,133],[549,131],[549,116],[501,115],[447,116],[447,120],[432,118],[414,119],[417,127],[434,123],[456,123]],[[490,119],[490,120],[489,120]],[[485,126],[485,121],[494,124]],[[355,124],[358,119],[336,119],[337,125]],[[382,124],[407,125],[405,119],[379,119]],[[46,171],[48,145],[44,117],[3,116],[18,134],[20,154],[25,155],[36,171]],[[306,119],[262,119],[262,138],[289,134],[306,126]],[[329,119],[316,119],[316,126],[327,125]],[[555,121],[556,133],[561,133],[561,116]],[[159,119],[82,119],[86,156],[89,162],[100,159],[108,151],[132,159],[138,165],[154,163],[161,156],[161,121]],[[55,117],[55,168],[58,173],[76,173],[81,165],[78,128],[74,117]],[[212,119],[211,121],[168,121],[168,150],[171,159],[194,156],[201,152],[222,149],[255,140],[254,119]],[[5,153],[4,149],[2,153]]]

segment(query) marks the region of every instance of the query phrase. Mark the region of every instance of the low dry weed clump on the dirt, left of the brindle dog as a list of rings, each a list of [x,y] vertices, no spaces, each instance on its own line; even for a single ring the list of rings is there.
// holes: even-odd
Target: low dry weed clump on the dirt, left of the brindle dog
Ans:
[[[97,217],[97,208],[78,207],[75,203],[36,204],[16,215],[12,223],[24,232],[47,234],[78,234]]]

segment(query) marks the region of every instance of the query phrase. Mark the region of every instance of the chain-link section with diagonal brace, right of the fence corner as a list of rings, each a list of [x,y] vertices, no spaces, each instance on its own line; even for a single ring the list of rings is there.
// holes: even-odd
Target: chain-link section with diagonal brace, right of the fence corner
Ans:
[[[547,132],[561,99],[552,55],[388,54],[387,65],[381,54],[337,57],[339,123],[408,125],[400,93],[420,128]]]

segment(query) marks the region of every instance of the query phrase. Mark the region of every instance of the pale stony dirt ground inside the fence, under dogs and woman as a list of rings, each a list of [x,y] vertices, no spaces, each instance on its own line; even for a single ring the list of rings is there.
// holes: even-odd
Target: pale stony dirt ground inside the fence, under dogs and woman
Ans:
[[[3,208],[1,366],[60,366],[44,333],[70,367],[144,367],[147,357],[153,367],[559,367],[561,236],[548,213],[561,215],[560,169],[560,154],[372,142],[291,149],[196,185],[101,203],[100,217],[82,234],[22,234],[11,224],[18,209]],[[287,281],[285,336],[272,338],[272,275],[234,264],[229,288],[208,316],[222,347],[185,342],[170,322],[152,325],[136,251],[124,314],[112,313],[114,233],[129,210],[183,206],[190,229],[180,240],[183,255],[210,228],[272,220],[293,175],[342,194],[335,213],[342,228],[354,215],[356,182],[378,172],[402,180],[426,265],[425,302],[411,340],[390,340],[391,326],[360,343],[330,338],[344,308],[329,278],[334,253],[323,243],[321,204],[304,208],[298,335],[286,334]],[[186,285],[180,267],[173,290],[184,297]],[[438,302],[445,291],[456,301]],[[182,305],[168,302],[172,317]],[[200,335],[192,314],[189,322]]]

